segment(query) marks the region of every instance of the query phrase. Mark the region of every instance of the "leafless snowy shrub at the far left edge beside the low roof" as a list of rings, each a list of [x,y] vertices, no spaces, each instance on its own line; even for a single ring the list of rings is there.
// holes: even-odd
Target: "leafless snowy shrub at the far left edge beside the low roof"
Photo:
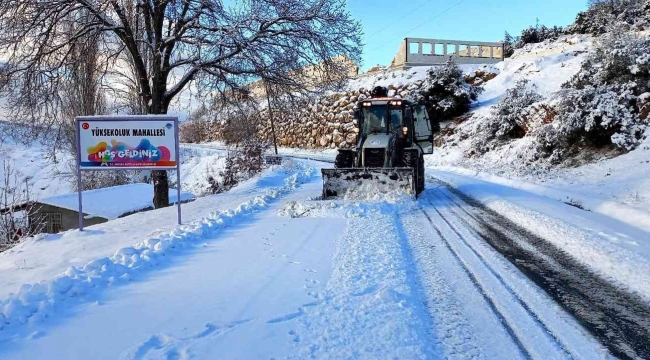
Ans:
[[[36,216],[37,205],[32,202],[29,194],[29,179],[22,177],[7,161],[3,161],[2,171],[0,252],[43,230],[43,223]]]

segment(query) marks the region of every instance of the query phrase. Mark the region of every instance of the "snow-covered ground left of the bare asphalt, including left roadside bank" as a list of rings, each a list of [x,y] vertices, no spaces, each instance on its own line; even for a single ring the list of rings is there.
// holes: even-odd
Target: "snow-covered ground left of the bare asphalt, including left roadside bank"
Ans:
[[[0,254],[0,357],[607,357],[433,183],[318,201],[320,166],[186,204],[181,227],[155,210]]]

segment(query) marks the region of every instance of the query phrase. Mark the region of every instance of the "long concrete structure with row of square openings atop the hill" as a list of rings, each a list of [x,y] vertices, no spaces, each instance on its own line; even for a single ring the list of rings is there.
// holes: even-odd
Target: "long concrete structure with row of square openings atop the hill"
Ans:
[[[406,38],[393,59],[392,67],[441,65],[453,57],[457,64],[493,64],[503,61],[499,42]]]

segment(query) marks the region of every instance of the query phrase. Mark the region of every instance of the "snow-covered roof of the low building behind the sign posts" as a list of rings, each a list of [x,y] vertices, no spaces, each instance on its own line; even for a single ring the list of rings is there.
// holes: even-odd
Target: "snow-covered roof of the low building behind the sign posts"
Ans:
[[[181,192],[181,201],[194,198],[188,192]],[[176,189],[169,189],[169,203],[177,201]],[[51,196],[38,200],[39,203],[79,211],[77,193]],[[108,220],[153,207],[153,185],[128,184],[83,192],[83,212]]]

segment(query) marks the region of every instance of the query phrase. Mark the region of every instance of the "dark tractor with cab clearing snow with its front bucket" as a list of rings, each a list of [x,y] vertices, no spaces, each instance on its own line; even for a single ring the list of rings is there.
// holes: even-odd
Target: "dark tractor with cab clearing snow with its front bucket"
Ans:
[[[388,97],[376,87],[357,102],[356,146],[340,149],[334,169],[323,169],[323,199],[367,198],[401,192],[417,197],[424,191],[424,154],[433,153],[433,124],[424,105]]]

